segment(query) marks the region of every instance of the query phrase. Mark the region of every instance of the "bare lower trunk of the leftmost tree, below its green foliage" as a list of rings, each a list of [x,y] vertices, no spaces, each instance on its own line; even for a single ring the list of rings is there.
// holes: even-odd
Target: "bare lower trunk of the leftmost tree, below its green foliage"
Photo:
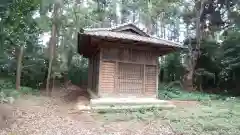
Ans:
[[[18,52],[17,73],[16,73],[16,90],[19,90],[20,86],[21,86],[23,49],[24,49],[24,46],[22,45]]]

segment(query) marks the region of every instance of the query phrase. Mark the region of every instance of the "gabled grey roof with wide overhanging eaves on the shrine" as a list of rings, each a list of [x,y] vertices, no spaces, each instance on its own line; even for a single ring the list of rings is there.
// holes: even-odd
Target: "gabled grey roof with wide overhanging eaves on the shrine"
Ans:
[[[111,28],[83,29],[83,31],[78,34],[78,49],[80,54],[89,55],[91,53],[93,50],[93,46],[90,45],[91,40],[94,40],[95,42],[111,41],[116,42],[116,45],[118,42],[123,41],[129,43],[129,45],[134,43],[161,48],[162,50],[167,49],[169,50],[168,52],[172,52],[177,48],[184,48],[180,43],[151,37],[132,23],[122,24]]]

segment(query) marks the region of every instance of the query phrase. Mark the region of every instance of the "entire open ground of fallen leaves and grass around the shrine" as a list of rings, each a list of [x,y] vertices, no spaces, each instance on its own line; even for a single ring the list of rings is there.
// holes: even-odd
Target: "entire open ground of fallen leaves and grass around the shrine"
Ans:
[[[25,96],[0,135],[239,135],[240,100],[173,101],[173,110],[80,113],[63,96]],[[84,98],[81,98],[84,100]],[[86,101],[83,101],[86,102]]]

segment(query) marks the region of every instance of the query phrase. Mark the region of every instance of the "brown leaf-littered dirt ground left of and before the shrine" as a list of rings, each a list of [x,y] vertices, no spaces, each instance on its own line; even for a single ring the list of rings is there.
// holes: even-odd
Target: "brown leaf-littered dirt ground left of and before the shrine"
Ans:
[[[51,98],[28,95],[17,99],[8,106],[11,124],[0,135],[174,135],[170,127],[155,121],[98,119],[101,114],[77,111],[76,102],[89,102],[77,87],[57,89]]]

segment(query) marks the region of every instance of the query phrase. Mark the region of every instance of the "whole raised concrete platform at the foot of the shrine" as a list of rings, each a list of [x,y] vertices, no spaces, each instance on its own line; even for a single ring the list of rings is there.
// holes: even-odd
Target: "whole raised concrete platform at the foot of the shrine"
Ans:
[[[89,106],[78,105],[82,111],[119,112],[122,110],[137,111],[139,109],[173,109],[175,105],[155,98],[97,98],[91,99]]]

